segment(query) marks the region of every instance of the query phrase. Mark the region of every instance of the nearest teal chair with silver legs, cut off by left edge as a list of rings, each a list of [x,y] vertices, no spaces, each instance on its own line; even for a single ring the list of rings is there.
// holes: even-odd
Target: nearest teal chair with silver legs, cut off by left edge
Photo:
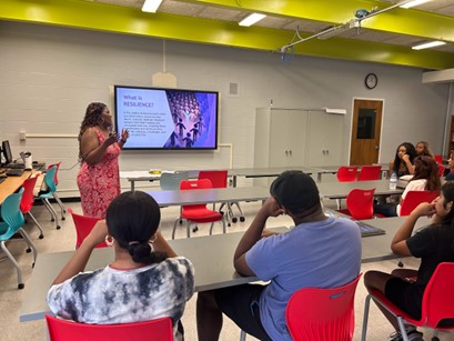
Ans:
[[[20,201],[22,199],[23,189],[19,193],[12,193],[4,199],[1,204],[1,219],[0,221],[0,247],[7,254],[8,259],[12,262],[16,270],[18,271],[18,289],[23,289],[24,284],[22,282],[22,271],[16,259],[12,257],[11,252],[7,248],[7,241],[12,240],[16,233],[20,233],[22,238],[27,241],[29,249],[27,252],[33,251],[33,264],[37,261],[37,249],[34,248],[30,237],[22,229],[26,223],[22,212],[20,211]]]

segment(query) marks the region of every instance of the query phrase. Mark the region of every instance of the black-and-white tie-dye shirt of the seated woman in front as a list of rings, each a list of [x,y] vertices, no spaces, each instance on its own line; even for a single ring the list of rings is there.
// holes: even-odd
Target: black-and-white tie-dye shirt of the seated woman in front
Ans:
[[[92,324],[114,324],[172,318],[176,330],[185,302],[194,293],[194,268],[183,258],[132,270],[109,265],[81,272],[48,292],[50,310],[58,317]]]

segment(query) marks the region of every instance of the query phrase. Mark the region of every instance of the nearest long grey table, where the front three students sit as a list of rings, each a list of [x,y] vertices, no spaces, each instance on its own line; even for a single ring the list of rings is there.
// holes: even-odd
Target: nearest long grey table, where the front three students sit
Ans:
[[[371,225],[381,228],[386,234],[362,238],[362,262],[396,259],[391,252],[391,240],[404,221],[404,217],[364,220]],[[415,230],[426,225],[428,219],[420,218]],[[274,229],[273,229],[274,230]],[[275,228],[279,232],[286,228]],[[242,277],[233,268],[233,253],[244,232],[232,232],[205,237],[170,240],[169,244],[181,255],[191,260],[195,268],[195,290],[205,291],[216,288],[239,285],[256,281],[255,277]],[[74,251],[41,253],[38,255],[32,277],[27,283],[20,322],[43,319],[49,312],[46,294],[57,274],[68,262]],[[87,264],[87,270],[103,268],[113,260],[113,249],[94,249]]]

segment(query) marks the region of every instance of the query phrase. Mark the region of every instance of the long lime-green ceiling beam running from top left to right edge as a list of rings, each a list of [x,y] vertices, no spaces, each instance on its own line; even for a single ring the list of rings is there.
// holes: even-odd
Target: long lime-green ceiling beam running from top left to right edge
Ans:
[[[272,6],[274,6],[275,8],[273,9],[276,11],[276,7],[281,1],[219,0],[211,2],[216,2],[216,6],[236,2],[255,3],[255,6],[266,3],[268,8],[273,8]],[[294,3],[296,1],[282,2],[284,3],[284,9],[281,9],[282,11],[294,10],[293,7],[295,7]],[[315,6],[314,3],[319,1],[305,2]],[[278,48],[287,44],[293,37],[292,31],[260,27],[243,28],[232,22],[160,12],[154,14],[143,13],[133,8],[78,0],[1,0],[0,19],[268,51],[275,51]],[[311,39],[297,44],[295,52],[305,56],[392,63],[426,69],[447,69],[454,67],[454,54],[452,53],[433,50],[413,51],[410,48],[400,46],[341,38],[327,40]]]

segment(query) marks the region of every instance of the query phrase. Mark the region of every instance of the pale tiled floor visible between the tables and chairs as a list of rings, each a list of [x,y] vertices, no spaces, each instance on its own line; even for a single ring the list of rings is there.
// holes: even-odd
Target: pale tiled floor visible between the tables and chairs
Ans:
[[[57,205],[56,205],[57,207]],[[67,203],[67,207],[72,208],[75,212],[81,212],[80,203]],[[250,202],[242,203],[243,211],[246,217],[245,222],[238,222],[229,228],[229,231],[243,231],[249,227],[252,217],[259,208],[259,203]],[[49,214],[43,207],[34,207],[32,212],[37,217],[38,221],[44,229],[44,239],[38,239],[38,230],[28,223],[26,229],[29,231],[38,252],[58,252],[73,250],[75,241],[75,232],[71,218],[68,215],[65,221],[61,222],[61,230],[56,230],[52,222],[49,221]],[[162,210],[162,223],[161,231],[165,238],[170,238],[173,221],[179,213],[178,208],[164,208]],[[271,219],[269,225],[292,225],[292,221],[287,217],[280,217]],[[209,225],[201,225],[196,234],[208,234]],[[184,238],[185,229],[178,231],[176,238]],[[24,278],[26,287],[32,273],[32,257],[30,253],[24,252],[24,243],[22,241],[14,241],[8,244],[12,254],[18,259]],[[1,252],[2,253],[2,252]],[[4,255],[4,254],[2,254]],[[417,267],[417,261],[413,259],[405,259],[405,264],[408,267]],[[363,264],[362,272],[371,269],[391,271],[396,267],[396,261],[383,261],[375,263]],[[22,290],[17,289],[17,275],[16,270],[11,263],[7,261],[0,262],[0,340],[46,340],[46,323],[44,321],[24,322],[20,323],[18,315],[23,295]],[[363,307],[365,298],[365,289],[362,280],[359,283],[356,298],[355,298],[355,312],[356,312],[356,328],[354,340],[361,338],[361,327],[363,321]],[[196,340],[195,330],[195,298],[196,294],[188,302],[184,317],[182,319],[185,329],[185,340]],[[43,298],[44,299],[44,298]],[[389,334],[392,332],[392,328],[389,322],[379,312],[377,308],[371,304],[370,327],[367,332],[367,340],[387,340]],[[426,340],[430,340],[431,333],[425,331]],[[224,319],[224,325],[222,329],[221,340],[230,341],[238,340],[240,337],[240,330],[229,319]],[[82,340],[82,339],[81,339]],[[252,337],[248,337],[248,340],[253,340]],[[441,340],[454,340],[453,334],[442,334]]]

